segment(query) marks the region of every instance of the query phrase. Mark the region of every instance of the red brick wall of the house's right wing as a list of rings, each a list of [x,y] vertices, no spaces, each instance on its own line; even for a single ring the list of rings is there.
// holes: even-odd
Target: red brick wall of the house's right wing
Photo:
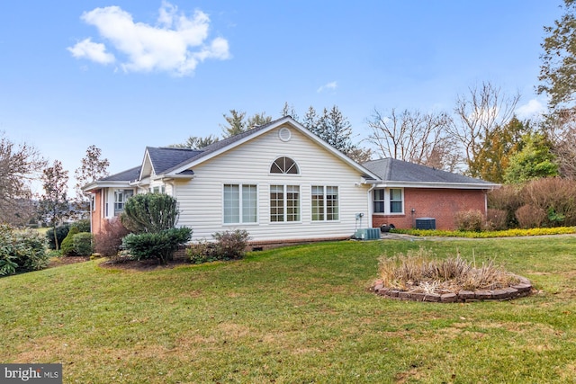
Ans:
[[[411,210],[414,209],[414,213]],[[415,219],[436,219],[437,229],[455,229],[454,214],[461,210],[480,210],[486,216],[485,192],[480,190],[404,189],[404,214],[374,214],[372,225],[393,224],[396,228],[413,228]]]

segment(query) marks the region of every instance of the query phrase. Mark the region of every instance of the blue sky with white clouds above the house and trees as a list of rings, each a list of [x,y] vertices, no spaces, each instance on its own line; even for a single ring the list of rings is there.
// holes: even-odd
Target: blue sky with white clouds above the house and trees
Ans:
[[[149,147],[220,136],[229,110],[337,105],[356,142],[374,113],[452,112],[482,82],[537,95],[560,0],[52,0],[0,4],[0,132],[70,176],[96,146],[111,174]],[[40,192],[40,191],[36,191]]]

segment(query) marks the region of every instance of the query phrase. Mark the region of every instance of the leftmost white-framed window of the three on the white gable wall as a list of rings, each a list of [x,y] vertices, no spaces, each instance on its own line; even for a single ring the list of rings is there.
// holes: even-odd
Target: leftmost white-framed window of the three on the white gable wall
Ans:
[[[256,223],[257,207],[255,184],[224,184],[224,224]]]

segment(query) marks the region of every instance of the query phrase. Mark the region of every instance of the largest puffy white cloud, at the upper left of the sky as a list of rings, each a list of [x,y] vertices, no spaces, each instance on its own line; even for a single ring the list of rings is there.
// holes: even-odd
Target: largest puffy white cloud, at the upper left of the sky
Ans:
[[[158,11],[157,25],[134,22],[132,15],[119,6],[95,8],[83,13],[81,19],[94,25],[123,58],[121,68],[126,72],[165,71],[189,76],[207,58],[230,58],[227,40],[207,41],[210,18],[206,13],[195,11],[186,16],[166,1]]]

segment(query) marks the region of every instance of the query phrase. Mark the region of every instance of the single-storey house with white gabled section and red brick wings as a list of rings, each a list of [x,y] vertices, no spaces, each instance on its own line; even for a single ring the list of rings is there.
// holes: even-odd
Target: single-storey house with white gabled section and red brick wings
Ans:
[[[495,186],[392,159],[358,165],[286,116],[200,150],[147,147],[141,165],[83,190],[94,195],[94,233],[131,195],[162,192],[178,201],[177,225],[193,228],[193,240],[240,228],[264,244],[410,228],[421,215],[452,228],[457,210],[486,212]]]

